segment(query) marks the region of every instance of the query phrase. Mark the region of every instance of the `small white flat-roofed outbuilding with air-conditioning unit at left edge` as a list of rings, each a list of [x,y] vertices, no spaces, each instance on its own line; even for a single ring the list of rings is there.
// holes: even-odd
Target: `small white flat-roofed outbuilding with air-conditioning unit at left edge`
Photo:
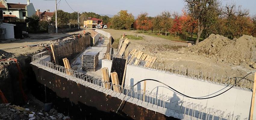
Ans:
[[[0,32],[4,32],[5,34],[0,35],[0,39],[14,39],[14,24],[2,23],[0,24]]]

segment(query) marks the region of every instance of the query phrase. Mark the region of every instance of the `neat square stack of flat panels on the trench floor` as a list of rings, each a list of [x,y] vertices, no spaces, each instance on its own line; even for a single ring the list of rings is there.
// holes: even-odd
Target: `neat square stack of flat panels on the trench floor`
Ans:
[[[94,71],[98,66],[99,52],[86,52],[82,56],[82,68],[83,71]]]

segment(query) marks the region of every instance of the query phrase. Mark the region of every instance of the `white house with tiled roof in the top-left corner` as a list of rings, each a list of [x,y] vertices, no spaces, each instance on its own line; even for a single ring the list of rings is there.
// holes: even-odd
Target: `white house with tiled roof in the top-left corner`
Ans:
[[[34,5],[27,0],[27,4],[8,3],[7,0],[0,0],[0,9],[3,10],[4,18],[26,19],[36,13]]]

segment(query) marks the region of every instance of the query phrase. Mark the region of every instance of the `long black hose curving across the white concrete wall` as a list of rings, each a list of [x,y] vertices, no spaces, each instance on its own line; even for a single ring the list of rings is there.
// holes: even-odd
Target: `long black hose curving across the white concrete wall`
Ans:
[[[256,72],[256,71],[253,71],[253,72],[251,72],[251,73],[255,73],[255,72]],[[210,99],[210,98],[214,98],[214,97],[217,97],[217,96],[219,96],[219,95],[222,95],[222,94],[225,93],[226,91],[229,91],[231,88],[233,88],[234,86],[236,86],[242,79],[245,79],[245,77],[247,77],[247,76],[250,75],[251,73],[248,73],[246,76],[244,76],[243,78],[241,78],[235,85],[233,85],[232,87],[230,87],[230,88],[228,88],[227,90],[223,91],[222,93],[220,93],[220,94],[218,94],[218,95],[214,95],[214,96],[212,96],[212,97],[208,97],[208,98],[194,98],[194,97],[190,97],[190,96],[188,96],[188,95],[185,95],[185,94],[183,94],[183,93],[177,91],[176,89],[170,87],[169,85],[166,85],[165,83],[163,83],[163,82],[161,82],[161,81],[158,81],[158,80],[155,80],[155,79],[144,79],[144,80],[141,80],[141,81],[137,82],[135,85],[139,84],[140,82],[146,81],[146,80],[156,81],[156,82],[159,82],[159,83],[164,84],[165,86],[169,87],[169,88],[172,89],[173,91],[176,91],[176,92],[179,93],[180,95],[183,95],[183,96],[185,96],[185,97],[187,97],[187,98],[203,100],[203,99]],[[129,92],[131,91],[131,89],[132,89],[135,85],[133,85],[133,86],[129,89],[129,91],[128,91],[127,93],[129,93]],[[125,98],[127,95],[128,95],[128,94],[126,94],[126,95],[124,96],[124,98]],[[123,98],[123,100],[122,100],[120,106],[118,107],[117,111],[120,109],[120,107],[121,107],[121,105],[122,105],[122,103],[123,103],[123,101],[124,101],[124,98]],[[117,113],[117,112],[116,112],[116,113]]]

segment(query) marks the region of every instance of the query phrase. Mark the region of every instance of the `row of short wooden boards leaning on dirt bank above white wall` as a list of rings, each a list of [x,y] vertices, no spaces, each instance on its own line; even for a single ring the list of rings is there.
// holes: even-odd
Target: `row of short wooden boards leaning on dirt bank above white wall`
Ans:
[[[152,67],[157,59],[156,57],[151,57],[150,55],[143,54],[142,51],[137,51],[137,49],[131,50],[129,56],[129,64],[139,65],[140,61],[145,61],[144,67]]]

